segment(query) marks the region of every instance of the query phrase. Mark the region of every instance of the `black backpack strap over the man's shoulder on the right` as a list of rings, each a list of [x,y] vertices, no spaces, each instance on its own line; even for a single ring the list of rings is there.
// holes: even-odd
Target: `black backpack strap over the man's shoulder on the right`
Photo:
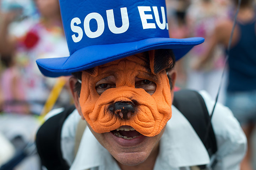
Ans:
[[[212,124],[206,137],[209,113],[203,97],[196,91],[180,90],[174,92],[173,105],[186,117],[205,145],[209,156],[216,153],[217,143]],[[205,140],[206,139],[206,140]]]

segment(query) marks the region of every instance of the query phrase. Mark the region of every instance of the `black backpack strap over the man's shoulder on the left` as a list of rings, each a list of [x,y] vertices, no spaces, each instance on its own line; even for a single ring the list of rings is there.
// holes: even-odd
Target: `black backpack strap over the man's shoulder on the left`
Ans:
[[[42,165],[48,170],[68,170],[69,165],[61,153],[61,129],[66,118],[75,110],[75,106],[49,118],[37,132],[36,145]]]

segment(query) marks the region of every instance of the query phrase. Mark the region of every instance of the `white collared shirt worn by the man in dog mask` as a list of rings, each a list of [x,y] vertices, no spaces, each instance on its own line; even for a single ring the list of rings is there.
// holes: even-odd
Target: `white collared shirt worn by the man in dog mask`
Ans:
[[[205,92],[200,94],[211,113],[214,101]],[[80,115],[75,110],[66,119],[61,133],[61,150],[70,170],[120,170],[115,159],[100,145],[89,128],[86,128],[76,157],[73,155],[76,126]],[[246,151],[246,137],[232,112],[217,104],[212,117],[212,126],[218,151],[213,157],[218,160],[216,170],[239,170],[239,163]],[[186,170],[190,166],[210,164],[205,146],[189,121],[172,106],[172,117],[160,139],[160,150],[154,170]]]

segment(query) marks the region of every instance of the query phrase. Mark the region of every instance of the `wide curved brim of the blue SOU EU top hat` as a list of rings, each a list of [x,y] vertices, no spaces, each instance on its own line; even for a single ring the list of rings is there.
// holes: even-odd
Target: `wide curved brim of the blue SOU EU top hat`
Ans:
[[[43,75],[59,77],[149,50],[172,49],[177,61],[203,41],[201,37],[149,38],[136,42],[93,45],[77,50],[69,57],[38,59],[37,65]]]

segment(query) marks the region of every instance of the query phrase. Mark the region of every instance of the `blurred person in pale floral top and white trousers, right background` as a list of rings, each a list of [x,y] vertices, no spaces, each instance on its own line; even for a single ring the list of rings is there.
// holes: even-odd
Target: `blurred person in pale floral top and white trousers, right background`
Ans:
[[[193,0],[187,10],[186,21],[190,36],[205,38],[205,42],[198,45],[189,53],[187,63],[187,88],[206,90],[214,98],[224,67],[223,50],[221,46],[213,49],[211,60],[202,64],[201,69],[195,69],[194,63],[205,52],[211,39],[216,22],[225,17],[225,8],[214,0]],[[222,102],[221,100],[219,100]]]

